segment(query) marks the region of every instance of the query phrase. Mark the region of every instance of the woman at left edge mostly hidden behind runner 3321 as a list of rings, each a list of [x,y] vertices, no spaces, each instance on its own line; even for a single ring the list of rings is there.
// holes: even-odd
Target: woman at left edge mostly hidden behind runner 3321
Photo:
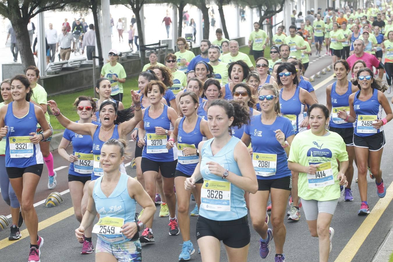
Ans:
[[[1,96],[4,102],[0,103],[0,108],[13,101],[11,94],[11,82],[9,79],[4,79],[1,84]],[[23,224],[22,213],[20,211],[20,204],[15,194],[14,189],[9,181],[6,170],[6,140],[0,141],[0,189],[4,202],[9,205],[11,210],[11,233],[8,240],[17,240],[22,237],[19,227]]]

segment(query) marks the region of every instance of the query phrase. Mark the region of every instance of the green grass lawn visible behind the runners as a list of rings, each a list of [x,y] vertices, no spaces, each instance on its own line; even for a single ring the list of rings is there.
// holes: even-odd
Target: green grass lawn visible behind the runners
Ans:
[[[270,46],[267,46],[265,49],[265,57],[267,59],[270,59]],[[242,48],[239,49],[239,51],[241,51],[242,53],[246,53],[248,54],[250,51],[250,48],[248,48],[248,46],[244,46]],[[254,57],[252,55],[248,55],[251,59],[251,62],[253,64],[255,64],[255,60]],[[131,97],[130,97],[130,91],[131,90],[137,90],[138,89],[138,77],[131,77],[131,78],[127,78],[126,82],[123,84],[123,91],[124,91],[124,97],[123,97],[123,104],[124,107],[127,108],[129,106],[131,106]],[[67,93],[67,94],[61,94],[61,95],[51,95],[48,96],[48,100],[49,99],[53,99],[54,101],[56,101],[57,105],[59,106],[61,113],[63,115],[65,115],[68,119],[72,120],[72,121],[76,121],[79,119],[77,113],[76,113],[76,109],[73,106],[73,103],[75,102],[75,99],[79,96],[79,95],[90,95],[90,96],[94,96],[94,90],[93,88],[91,89],[86,89],[83,91],[79,91],[79,92],[75,92],[75,93]],[[53,133],[59,133],[62,132],[62,130],[64,130],[64,127],[62,125],[60,125],[59,121],[57,121],[55,119],[55,117],[51,116],[51,125],[53,127]]]

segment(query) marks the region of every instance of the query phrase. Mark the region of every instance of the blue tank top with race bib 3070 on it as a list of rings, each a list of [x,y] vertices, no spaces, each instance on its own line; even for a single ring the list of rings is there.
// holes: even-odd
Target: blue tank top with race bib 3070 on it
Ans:
[[[143,125],[146,130],[145,146],[143,147],[142,158],[147,158],[152,161],[167,162],[177,159],[177,150],[166,149],[169,136],[156,136],[156,126],[160,126],[166,130],[171,129],[171,121],[168,118],[168,106],[164,104],[162,113],[157,118],[149,116],[148,106],[143,115]],[[147,150],[149,149],[149,153]]]

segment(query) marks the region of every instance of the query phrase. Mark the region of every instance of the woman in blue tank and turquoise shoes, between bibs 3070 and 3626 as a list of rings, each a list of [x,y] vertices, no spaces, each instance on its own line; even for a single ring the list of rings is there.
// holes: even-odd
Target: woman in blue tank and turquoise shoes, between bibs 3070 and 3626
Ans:
[[[184,181],[193,174],[196,164],[199,162],[199,153],[196,147],[202,139],[213,137],[209,131],[208,122],[196,114],[198,105],[198,96],[194,92],[187,91],[180,96],[180,108],[184,117],[176,119],[173,132],[167,142],[168,150],[176,146],[178,152],[174,183],[178,199],[179,227],[183,238],[179,261],[189,260],[195,252],[190,240],[190,218],[188,215],[191,191],[184,189]],[[177,142],[177,145],[174,141]],[[200,206],[202,183],[203,179],[196,181],[197,213]]]

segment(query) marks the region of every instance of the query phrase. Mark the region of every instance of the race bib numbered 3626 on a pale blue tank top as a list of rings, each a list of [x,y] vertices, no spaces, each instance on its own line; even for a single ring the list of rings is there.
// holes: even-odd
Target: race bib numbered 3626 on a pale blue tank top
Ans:
[[[211,211],[231,211],[231,183],[204,180],[201,189],[201,207]]]

